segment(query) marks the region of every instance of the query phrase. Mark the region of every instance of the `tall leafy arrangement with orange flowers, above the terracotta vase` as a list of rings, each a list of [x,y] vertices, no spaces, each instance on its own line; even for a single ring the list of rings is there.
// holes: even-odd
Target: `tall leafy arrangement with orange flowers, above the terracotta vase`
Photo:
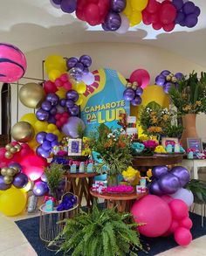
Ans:
[[[202,72],[198,78],[193,71],[189,77],[183,76],[178,84],[168,92],[178,114],[206,113],[206,73]]]

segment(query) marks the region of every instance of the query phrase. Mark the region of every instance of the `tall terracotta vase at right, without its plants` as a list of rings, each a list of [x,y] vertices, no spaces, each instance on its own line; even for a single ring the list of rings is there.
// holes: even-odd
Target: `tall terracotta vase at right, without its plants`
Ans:
[[[198,138],[196,133],[196,114],[182,115],[183,132],[181,137],[182,147],[188,149],[187,138]]]

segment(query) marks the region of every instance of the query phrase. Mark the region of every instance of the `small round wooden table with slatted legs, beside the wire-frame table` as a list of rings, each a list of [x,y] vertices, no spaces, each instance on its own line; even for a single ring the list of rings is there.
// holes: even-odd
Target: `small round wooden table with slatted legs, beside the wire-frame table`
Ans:
[[[93,186],[94,176],[99,174],[94,173],[66,173],[67,189],[72,191],[74,195],[79,198],[79,207],[81,207],[82,197],[86,197],[86,206],[90,207],[93,204],[93,197],[91,197],[89,190]]]

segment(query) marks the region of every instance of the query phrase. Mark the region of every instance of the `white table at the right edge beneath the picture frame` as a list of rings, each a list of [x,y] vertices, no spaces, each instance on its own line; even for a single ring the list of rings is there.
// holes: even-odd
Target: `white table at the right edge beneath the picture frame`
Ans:
[[[198,179],[198,168],[206,167],[206,159],[183,159],[182,166],[189,169],[194,179]]]

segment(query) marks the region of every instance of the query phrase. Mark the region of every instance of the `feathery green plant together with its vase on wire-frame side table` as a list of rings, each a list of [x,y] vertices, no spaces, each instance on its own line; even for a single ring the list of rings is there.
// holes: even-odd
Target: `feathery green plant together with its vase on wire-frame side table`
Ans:
[[[45,169],[46,183],[50,190],[50,196],[60,200],[65,189],[65,170],[62,164],[52,163]]]

